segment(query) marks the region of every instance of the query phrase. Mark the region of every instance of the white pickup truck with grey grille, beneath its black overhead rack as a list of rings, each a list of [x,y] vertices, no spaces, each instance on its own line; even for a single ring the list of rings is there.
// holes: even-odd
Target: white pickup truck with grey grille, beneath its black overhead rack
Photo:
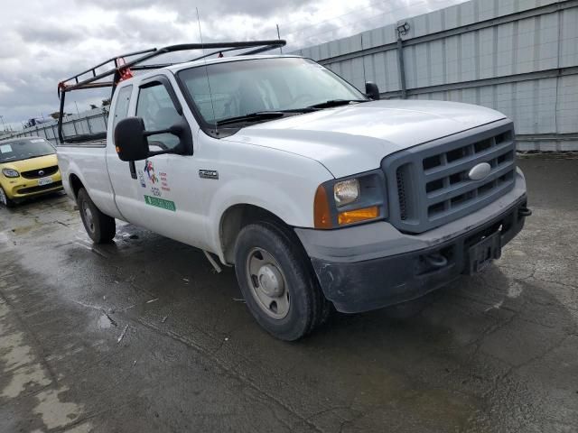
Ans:
[[[106,140],[62,138],[64,189],[95,243],[119,219],[234,265],[278,338],[478,272],[531,213],[497,111],[377,100],[296,56],[140,64],[115,62]]]

